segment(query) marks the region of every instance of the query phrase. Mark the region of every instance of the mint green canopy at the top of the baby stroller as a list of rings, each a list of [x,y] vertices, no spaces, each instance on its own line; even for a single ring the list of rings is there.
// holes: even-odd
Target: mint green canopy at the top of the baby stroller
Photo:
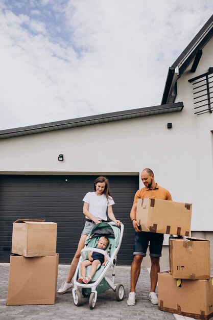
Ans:
[[[88,245],[93,237],[113,237],[115,242],[115,247],[119,245],[121,231],[117,226],[113,226],[107,222],[100,222],[96,224],[89,235],[86,238],[85,244]]]

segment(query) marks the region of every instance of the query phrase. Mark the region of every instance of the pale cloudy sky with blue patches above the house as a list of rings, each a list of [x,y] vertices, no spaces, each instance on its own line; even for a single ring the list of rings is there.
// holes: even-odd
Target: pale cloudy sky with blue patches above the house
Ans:
[[[209,0],[0,0],[0,130],[161,103]]]

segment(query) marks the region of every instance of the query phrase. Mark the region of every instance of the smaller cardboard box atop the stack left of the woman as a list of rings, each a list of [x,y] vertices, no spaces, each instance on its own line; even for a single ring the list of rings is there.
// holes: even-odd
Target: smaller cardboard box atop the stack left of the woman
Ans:
[[[13,222],[12,253],[24,257],[56,254],[57,223],[44,220]]]

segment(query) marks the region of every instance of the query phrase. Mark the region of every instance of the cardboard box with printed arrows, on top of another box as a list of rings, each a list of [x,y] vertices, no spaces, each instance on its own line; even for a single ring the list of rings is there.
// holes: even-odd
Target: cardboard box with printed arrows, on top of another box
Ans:
[[[170,271],[174,279],[209,279],[210,242],[202,238],[170,238]]]

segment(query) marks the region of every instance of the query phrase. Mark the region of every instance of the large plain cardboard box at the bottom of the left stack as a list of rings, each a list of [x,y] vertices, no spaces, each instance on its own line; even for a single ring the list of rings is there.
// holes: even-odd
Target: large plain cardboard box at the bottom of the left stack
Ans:
[[[56,301],[58,254],[10,256],[7,305],[51,305]]]

